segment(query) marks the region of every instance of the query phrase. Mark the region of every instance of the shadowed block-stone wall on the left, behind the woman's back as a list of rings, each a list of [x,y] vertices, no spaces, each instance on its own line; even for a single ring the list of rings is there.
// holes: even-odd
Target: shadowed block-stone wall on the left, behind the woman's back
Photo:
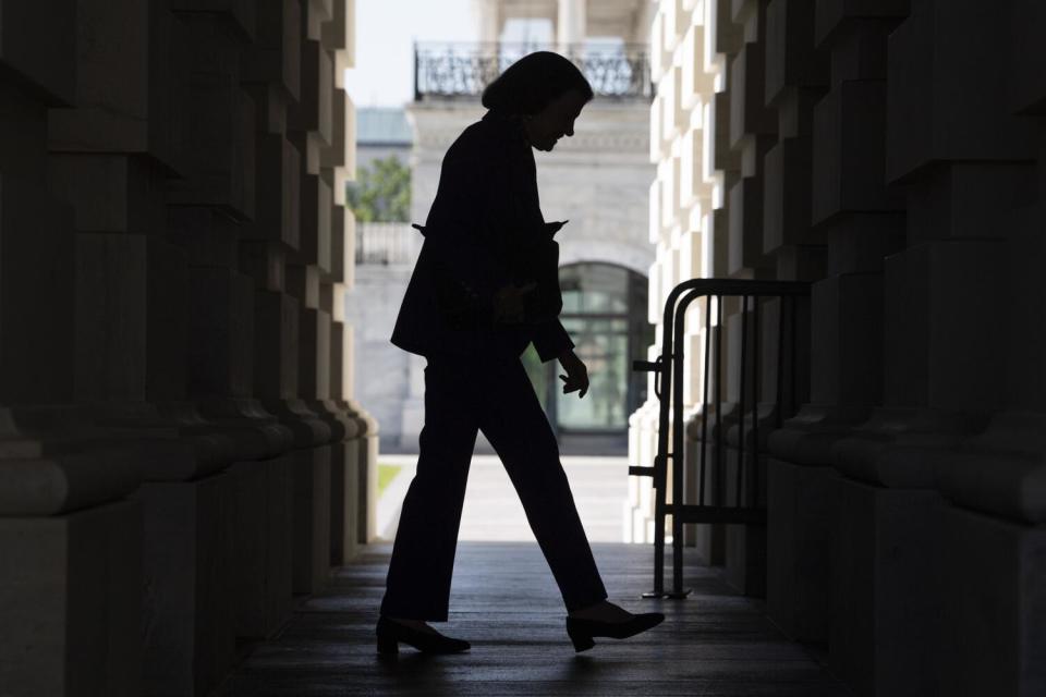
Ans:
[[[208,694],[373,538],[354,30],[352,0],[4,5],[3,694]]]

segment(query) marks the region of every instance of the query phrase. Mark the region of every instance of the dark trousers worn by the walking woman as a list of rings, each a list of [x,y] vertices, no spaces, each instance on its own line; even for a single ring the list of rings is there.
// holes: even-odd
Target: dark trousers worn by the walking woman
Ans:
[[[575,393],[576,395],[576,393]],[[446,622],[465,480],[482,430],[515,487],[568,611],[607,591],[577,517],[559,444],[519,357],[434,355],[425,426],[392,547],[381,614]]]

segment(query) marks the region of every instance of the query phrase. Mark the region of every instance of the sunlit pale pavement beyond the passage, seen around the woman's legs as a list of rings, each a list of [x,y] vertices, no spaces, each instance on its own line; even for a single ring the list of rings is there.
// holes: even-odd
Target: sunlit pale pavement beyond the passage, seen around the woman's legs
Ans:
[[[378,502],[378,534],[392,541],[400,506],[417,466],[417,455],[381,455],[378,460],[403,466]],[[628,460],[564,455],[560,461],[589,541],[623,541],[628,515]],[[496,455],[474,455],[472,458],[458,539],[534,541],[523,504]]]

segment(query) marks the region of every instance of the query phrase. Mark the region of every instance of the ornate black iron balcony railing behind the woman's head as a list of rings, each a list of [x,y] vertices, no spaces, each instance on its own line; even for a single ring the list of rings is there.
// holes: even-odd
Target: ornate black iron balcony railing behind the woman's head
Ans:
[[[501,71],[533,51],[556,50],[569,58],[592,83],[597,99],[654,97],[645,46],[570,46],[539,44],[415,44],[414,100],[475,99]]]

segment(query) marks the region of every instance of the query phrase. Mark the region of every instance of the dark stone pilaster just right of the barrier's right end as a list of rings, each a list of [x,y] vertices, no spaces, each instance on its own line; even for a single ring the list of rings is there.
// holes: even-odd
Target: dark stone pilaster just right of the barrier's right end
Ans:
[[[811,494],[827,487],[824,501],[832,503],[829,510],[812,505],[796,513],[793,517],[801,522],[793,530],[796,542],[816,528],[829,531],[827,539],[813,533],[814,549],[806,552],[805,562],[819,587],[824,563],[830,559],[829,649],[841,672],[847,672],[840,657],[850,655],[848,643],[867,649],[859,659],[862,665],[869,664],[873,653],[866,643],[869,625],[865,616],[858,616],[865,612],[866,599],[855,595],[875,583],[874,573],[863,566],[859,571],[848,559],[874,552],[873,540],[863,530],[875,515],[840,491],[838,477],[826,480],[828,473],[795,467],[831,464],[834,443],[852,432],[883,398],[883,344],[868,338],[883,331],[884,257],[901,246],[904,235],[903,198],[887,187],[885,178],[886,37],[905,11],[904,2],[853,9],[826,5],[818,8],[816,17],[818,44],[831,53],[830,89],[814,112],[813,160],[813,216],[828,241],[828,268],[827,278],[812,289],[811,404],[794,419],[794,430],[792,424],[787,426],[775,454],[791,463],[780,473],[782,489],[789,479],[796,487],[793,503],[808,498],[798,489],[801,481]],[[804,448],[810,451],[805,457],[799,452]],[[786,493],[782,503],[788,500]],[[798,555],[792,561],[804,560]],[[823,607],[792,610],[796,631],[823,638]]]

